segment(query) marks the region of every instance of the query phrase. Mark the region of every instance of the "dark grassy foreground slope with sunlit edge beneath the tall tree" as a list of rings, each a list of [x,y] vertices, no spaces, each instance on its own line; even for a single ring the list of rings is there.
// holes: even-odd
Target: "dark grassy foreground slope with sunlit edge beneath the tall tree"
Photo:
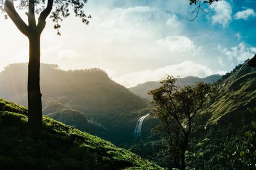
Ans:
[[[0,99],[0,169],[161,169],[138,155],[44,117],[28,130],[26,108]]]

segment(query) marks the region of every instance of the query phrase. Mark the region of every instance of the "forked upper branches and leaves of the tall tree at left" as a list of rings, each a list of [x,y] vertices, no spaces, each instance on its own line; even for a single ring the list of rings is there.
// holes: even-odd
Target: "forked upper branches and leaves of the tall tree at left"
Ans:
[[[87,15],[84,11],[84,5],[87,0],[20,0],[14,4],[13,0],[0,0],[0,11],[3,11],[4,17],[10,17],[18,29],[28,36],[29,31],[36,29],[38,32],[42,32],[45,27],[45,20],[49,16],[54,22],[54,29],[60,34],[60,22],[63,18],[70,16],[73,12],[76,17],[81,18],[84,24],[89,24],[89,18],[91,15]],[[28,24],[26,24],[17,13],[18,10],[26,10],[28,16]],[[36,17],[38,15],[38,22],[36,24]]]

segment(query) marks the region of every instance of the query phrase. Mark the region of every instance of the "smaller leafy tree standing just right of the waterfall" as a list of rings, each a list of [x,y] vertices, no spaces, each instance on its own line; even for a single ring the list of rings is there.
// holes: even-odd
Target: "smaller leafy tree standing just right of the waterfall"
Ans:
[[[154,113],[163,122],[173,160],[179,169],[185,169],[192,120],[207,99],[211,85],[197,82],[194,87],[178,89],[175,81],[172,76],[167,76],[160,81],[161,87],[149,94],[153,96]]]

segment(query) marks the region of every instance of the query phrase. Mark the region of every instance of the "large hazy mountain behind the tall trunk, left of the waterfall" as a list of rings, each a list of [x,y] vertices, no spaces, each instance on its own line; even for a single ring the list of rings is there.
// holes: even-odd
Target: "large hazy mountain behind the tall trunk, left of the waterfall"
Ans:
[[[27,106],[27,71],[28,64],[11,64],[6,67],[0,73],[0,96]],[[106,129],[111,134],[111,141],[116,144],[133,141],[136,120],[141,116],[136,111],[147,106],[145,99],[132,94],[124,86],[112,81],[104,71],[96,68],[63,71],[54,64],[41,64],[40,86],[45,115],[54,113],[52,118],[58,117],[60,121],[77,126],[81,120],[75,117],[72,110],[77,111],[97,122],[102,130]],[[64,111],[64,116],[65,109],[68,110]],[[56,111],[59,111],[58,114]],[[67,111],[72,115],[68,116],[72,118],[71,122],[66,119]],[[82,120],[87,124],[86,119]],[[98,127],[93,127],[96,128],[93,134],[97,134]],[[80,130],[84,131],[83,128]],[[99,134],[106,134],[106,131]],[[105,138],[106,135],[100,137]]]

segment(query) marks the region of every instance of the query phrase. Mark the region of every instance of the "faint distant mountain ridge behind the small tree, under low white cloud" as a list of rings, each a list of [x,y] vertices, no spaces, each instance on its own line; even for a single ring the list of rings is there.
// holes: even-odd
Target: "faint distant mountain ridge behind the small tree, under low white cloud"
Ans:
[[[185,85],[195,85],[195,82],[203,81],[205,83],[214,83],[220,80],[220,74],[214,74],[211,76],[207,76],[205,78],[198,78],[195,76],[187,76],[185,78],[177,78],[176,85],[179,87],[184,87]],[[142,84],[136,85],[136,87],[131,87],[129,90],[136,94],[137,96],[143,97],[148,100],[152,100],[152,97],[148,95],[148,91],[154,90],[160,87],[159,81],[147,81]]]

